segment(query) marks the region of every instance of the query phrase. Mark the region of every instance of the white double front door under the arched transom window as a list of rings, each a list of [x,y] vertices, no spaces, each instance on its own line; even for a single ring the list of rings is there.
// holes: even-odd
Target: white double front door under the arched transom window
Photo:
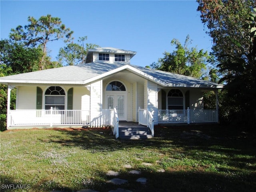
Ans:
[[[106,95],[106,108],[117,109],[118,118],[121,121],[127,120],[126,94],[112,91],[111,94]]]

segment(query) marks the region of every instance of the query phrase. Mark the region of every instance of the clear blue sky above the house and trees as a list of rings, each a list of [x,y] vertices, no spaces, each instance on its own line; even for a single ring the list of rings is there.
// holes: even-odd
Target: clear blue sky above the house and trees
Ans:
[[[210,52],[212,40],[197,7],[195,0],[0,0],[0,39],[9,38],[12,28],[27,25],[29,16],[38,20],[50,14],[74,31],[74,42],[87,36],[86,43],[135,51],[131,64],[149,66],[165,51],[175,50],[172,39],[184,44],[187,35],[191,47]],[[48,44],[52,61],[64,46],[62,40]]]

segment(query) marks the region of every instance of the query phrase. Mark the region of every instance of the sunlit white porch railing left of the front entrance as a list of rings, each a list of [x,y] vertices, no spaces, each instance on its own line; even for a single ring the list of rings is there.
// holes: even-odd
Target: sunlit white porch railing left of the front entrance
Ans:
[[[89,110],[10,110],[10,126],[88,125]]]

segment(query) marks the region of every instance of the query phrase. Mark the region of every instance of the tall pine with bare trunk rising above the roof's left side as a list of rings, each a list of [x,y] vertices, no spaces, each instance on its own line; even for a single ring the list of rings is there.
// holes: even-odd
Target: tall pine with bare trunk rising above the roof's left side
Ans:
[[[40,70],[46,67],[47,44],[59,39],[69,42],[72,39],[73,31],[62,24],[60,18],[52,17],[50,14],[41,16],[38,20],[28,17],[28,25],[18,26],[11,29],[10,38],[22,41],[26,46],[41,46],[43,55],[40,60]]]

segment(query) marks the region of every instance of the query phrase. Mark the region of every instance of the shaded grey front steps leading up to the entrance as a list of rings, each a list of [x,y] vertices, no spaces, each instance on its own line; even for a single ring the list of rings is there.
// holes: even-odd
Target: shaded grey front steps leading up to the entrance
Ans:
[[[148,127],[119,127],[120,139],[149,139],[152,138]]]

